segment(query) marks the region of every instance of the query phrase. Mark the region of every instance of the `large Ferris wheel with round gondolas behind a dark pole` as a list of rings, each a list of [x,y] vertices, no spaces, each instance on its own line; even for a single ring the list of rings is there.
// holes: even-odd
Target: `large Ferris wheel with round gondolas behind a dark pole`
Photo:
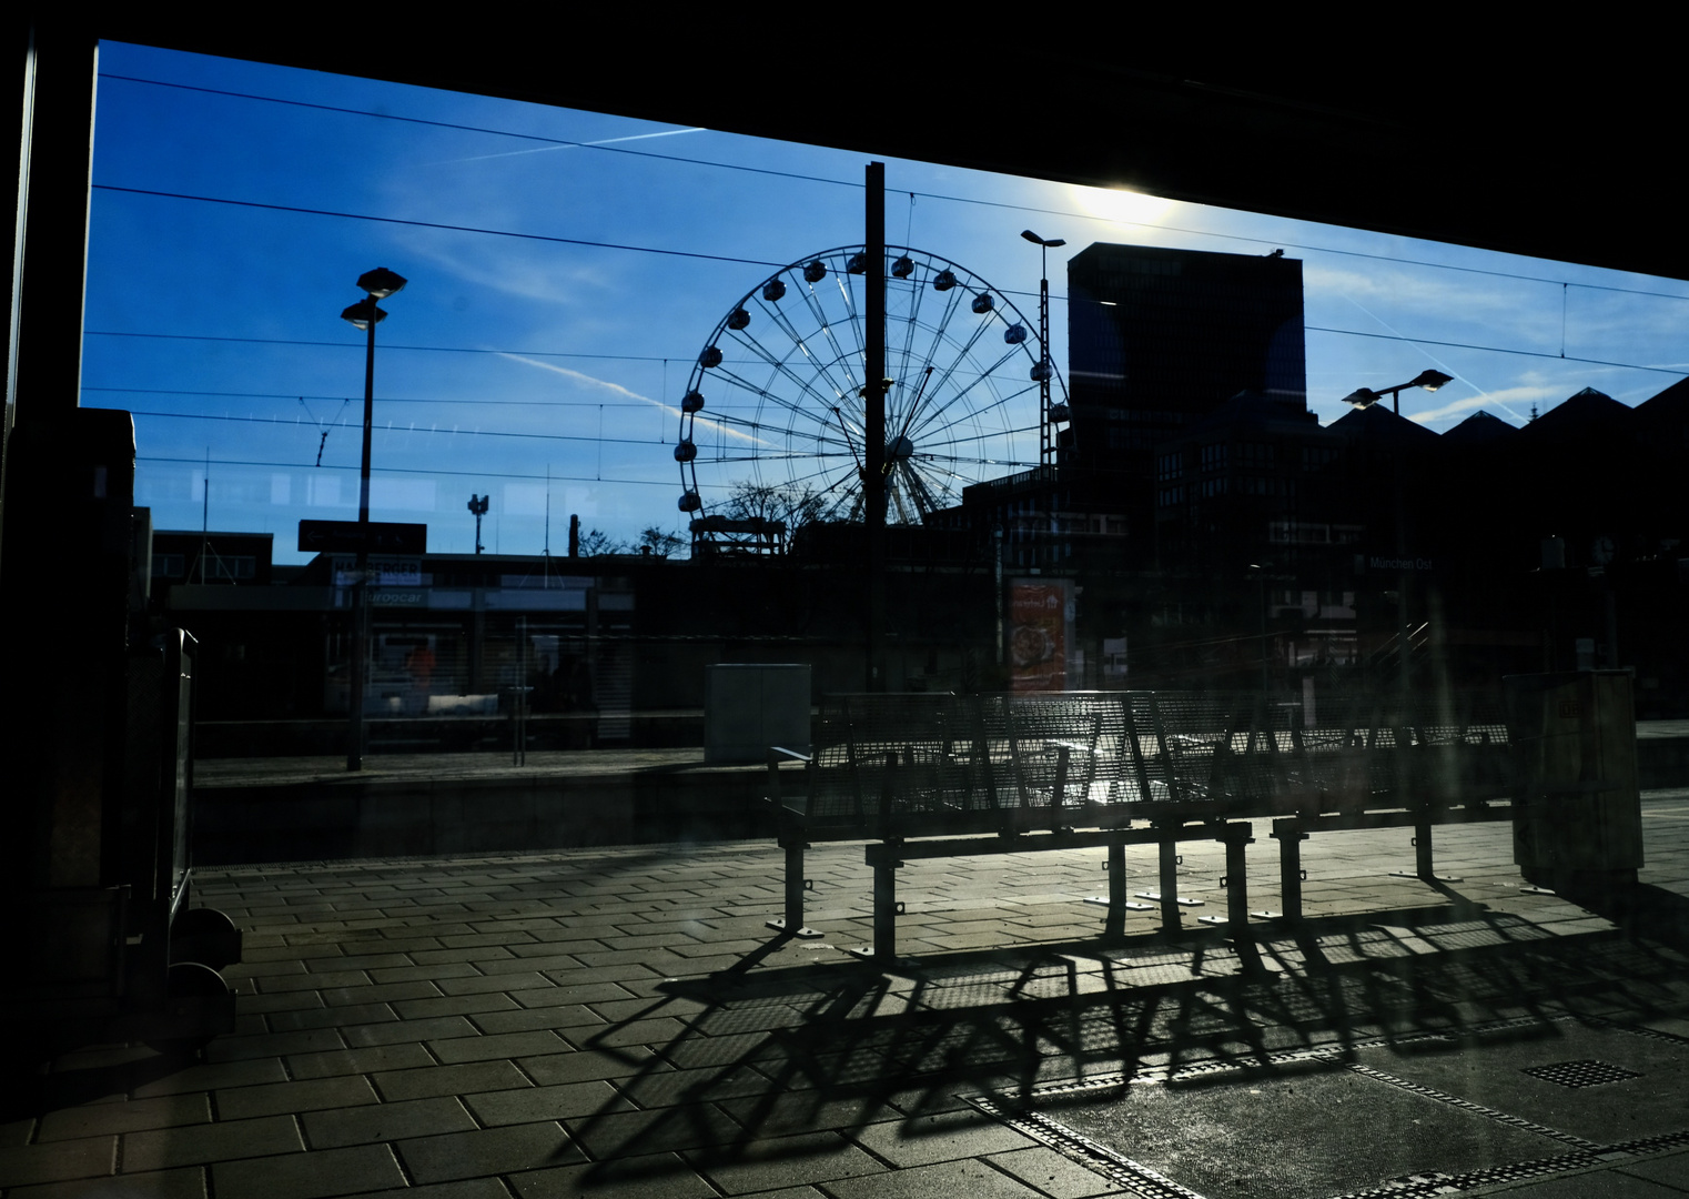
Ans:
[[[1037,323],[998,289],[922,250],[885,257],[887,522],[921,524],[964,486],[1047,458],[1067,393]],[[687,378],[674,448],[694,539],[743,486],[807,496],[821,518],[863,518],[865,321],[863,247],[782,267],[721,317]]]

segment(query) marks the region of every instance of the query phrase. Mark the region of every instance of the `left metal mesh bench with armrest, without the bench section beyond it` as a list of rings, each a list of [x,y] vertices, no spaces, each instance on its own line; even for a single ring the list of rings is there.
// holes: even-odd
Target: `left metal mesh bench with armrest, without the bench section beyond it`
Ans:
[[[1125,846],[1162,849],[1164,922],[1177,927],[1174,846],[1236,844],[1236,919],[1243,910],[1241,846],[1250,826],[1179,804],[1167,760],[1135,736],[1123,692],[829,696],[812,751],[770,750],[770,800],[785,849],[785,914],[768,925],[804,925],[804,851],[811,841],[873,839],[875,959],[895,958],[895,871],[909,860],[1106,848],[1105,932],[1125,927]],[[804,794],[785,799],[782,762],[804,762]],[[1181,758],[1181,763],[1186,760]],[[1152,811],[1154,809],[1154,811]],[[1135,817],[1154,817],[1132,827]],[[1191,821],[1201,821],[1191,826]]]

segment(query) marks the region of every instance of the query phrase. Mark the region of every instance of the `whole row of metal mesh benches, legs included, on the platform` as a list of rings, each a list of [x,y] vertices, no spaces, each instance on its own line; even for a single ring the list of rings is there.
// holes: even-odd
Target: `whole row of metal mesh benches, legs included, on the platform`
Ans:
[[[772,748],[770,800],[785,849],[785,912],[804,924],[804,851],[872,841],[873,949],[895,958],[897,870],[910,860],[1105,848],[1105,936],[1130,903],[1125,846],[1159,848],[1162,927],[1177,932],[1177,846],[1226,846],[1226,917],[1250,919],[1250,819],[1272,819],[1285,917],[1301,915],[1301,843],[1353,827],[1415,827],[1417,873],[1432,878],[1431,826],[1508,819],[1507,724],[1498,713],[1431,704],[1402,713],[1373,697],[1344,719],[1302,730],[1295,709],[1257,696],[1184,692],[828,696],[812,753]],[[804,762],[802,797],[784,797],[782,762]],[[1133,826],[1133,822],[1138,826]]]

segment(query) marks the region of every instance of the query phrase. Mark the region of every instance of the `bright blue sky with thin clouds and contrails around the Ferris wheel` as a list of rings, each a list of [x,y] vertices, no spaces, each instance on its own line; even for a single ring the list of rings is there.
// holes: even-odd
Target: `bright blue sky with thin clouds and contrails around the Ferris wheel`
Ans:
[[[363,336],[339,311],[365,270],[410,280],[378,331],[372,517],[468,551],[468,498],[490,495],[486,547],[539,552],[549,496],[561,552],[569,513],[681,530],[698,353],[777,269],[863,236],[861,154],[122,44],[100,66],[83,404],[137,414],[155,527],[199,527],[209,458],[211,527],[274,532],[280,562],[304,557],[302,517],[356,518]],[[1583,387],[1638,404],[1689,373],[1679,280],[885,164],[887,240],[1034,321],[1020,230],[1067,240],[1062,375],[1066,255],[1091,241],[1301,258],[1324,422],[1426,366],[1456,382],[1402,412],[1436,431]],[[699,469],[706,502],[730,475]]]

